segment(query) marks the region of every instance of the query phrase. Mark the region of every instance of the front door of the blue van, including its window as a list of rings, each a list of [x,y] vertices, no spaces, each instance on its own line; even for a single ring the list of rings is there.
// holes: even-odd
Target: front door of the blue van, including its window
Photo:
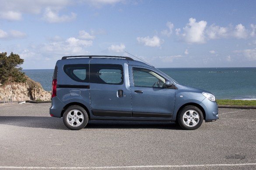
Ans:
[[[166,78],[156,70],[129,66],[133,117],[171,118],[175,89],[165,88]]]

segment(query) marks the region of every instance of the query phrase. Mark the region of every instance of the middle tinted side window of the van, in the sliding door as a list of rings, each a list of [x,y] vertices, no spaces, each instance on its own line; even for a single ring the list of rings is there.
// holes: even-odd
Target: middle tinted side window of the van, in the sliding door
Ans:
[[[123,66],[112,64],[91,64],[90,82],[122,85],[124,83]]]

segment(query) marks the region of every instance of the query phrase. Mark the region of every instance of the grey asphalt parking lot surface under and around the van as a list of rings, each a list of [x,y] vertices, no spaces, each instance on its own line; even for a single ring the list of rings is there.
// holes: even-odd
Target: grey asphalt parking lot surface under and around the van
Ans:
[[[193,131],[133,121],[71,131],[50,105],[0,104],[0,170],[256,169],[255,109],[219,109],[220,119]]]

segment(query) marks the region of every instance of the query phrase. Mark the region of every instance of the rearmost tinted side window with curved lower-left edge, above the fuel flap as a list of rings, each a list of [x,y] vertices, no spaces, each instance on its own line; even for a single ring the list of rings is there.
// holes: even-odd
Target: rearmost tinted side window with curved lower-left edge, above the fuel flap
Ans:
[[[63,70],[76,82],[89,82],[89,65],[64,65]]]

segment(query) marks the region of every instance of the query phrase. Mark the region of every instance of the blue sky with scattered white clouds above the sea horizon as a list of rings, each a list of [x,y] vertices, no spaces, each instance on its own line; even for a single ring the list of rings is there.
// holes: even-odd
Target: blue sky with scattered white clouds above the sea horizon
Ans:
[[[19,54],[23,69],[54,69],[71,55],[136,59],[130,54],[156,68],[256,67],[255,7],[256,0],[0,0],[0,52]]]

